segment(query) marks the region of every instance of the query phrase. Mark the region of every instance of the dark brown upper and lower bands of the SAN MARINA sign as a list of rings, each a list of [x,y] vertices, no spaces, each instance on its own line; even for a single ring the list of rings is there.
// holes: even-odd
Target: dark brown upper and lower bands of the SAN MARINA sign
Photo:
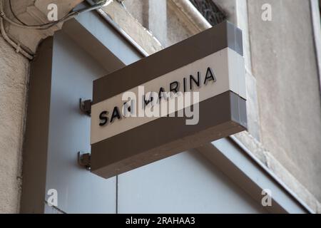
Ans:
[[[242,46],[240,29],[225,21],[94,81],[93,105],[225,48],[243,56]],[[239,133],[246,125],[245,99],[228,90],[200,101],[197,125],[185,125],[185,118],[162,117],[93,143],[91,172],[113,177]]]

